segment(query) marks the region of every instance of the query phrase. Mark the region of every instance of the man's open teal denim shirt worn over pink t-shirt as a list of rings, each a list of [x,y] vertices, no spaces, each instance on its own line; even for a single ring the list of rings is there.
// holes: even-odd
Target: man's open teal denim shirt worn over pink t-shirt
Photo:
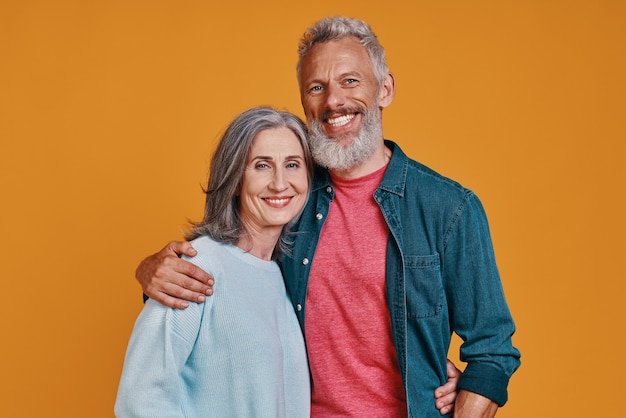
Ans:
[[[409,416],[440,417],[434,391],[447,380],[452,332],[467,362],[459,389],[501,406],[520,353],[483,207],[470,190],[386,145],[393,155],[374,199],[390,231],[387,304]],[[311,264],[333,198],[328,172],[318,168],[293,251],[282,259],[302,330]]]

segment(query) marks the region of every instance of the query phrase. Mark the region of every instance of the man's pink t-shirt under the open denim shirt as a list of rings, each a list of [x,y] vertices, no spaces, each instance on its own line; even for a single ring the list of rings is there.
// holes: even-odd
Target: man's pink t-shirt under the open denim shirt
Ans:
[[[373,198],[386,167],[332,177],[335,200],[317,246],[306,303],[311,416],[406,416],[385,289],[388,228]]]

